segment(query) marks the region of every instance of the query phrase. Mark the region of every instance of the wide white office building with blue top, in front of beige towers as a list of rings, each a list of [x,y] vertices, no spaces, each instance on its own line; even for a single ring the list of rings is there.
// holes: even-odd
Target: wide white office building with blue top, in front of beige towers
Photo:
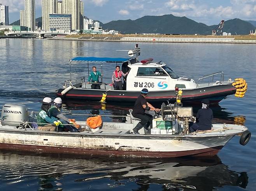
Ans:
[[[71,28],[71,14],[49,14],[49,29],[51,31],[70,31]]]

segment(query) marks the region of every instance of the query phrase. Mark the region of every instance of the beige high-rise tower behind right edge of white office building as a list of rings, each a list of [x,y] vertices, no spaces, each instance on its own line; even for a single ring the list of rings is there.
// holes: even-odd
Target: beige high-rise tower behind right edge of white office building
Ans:
[[[72,15],[72,30],[83,29],[84,3],[81,0],[62,0],[62,13]]]

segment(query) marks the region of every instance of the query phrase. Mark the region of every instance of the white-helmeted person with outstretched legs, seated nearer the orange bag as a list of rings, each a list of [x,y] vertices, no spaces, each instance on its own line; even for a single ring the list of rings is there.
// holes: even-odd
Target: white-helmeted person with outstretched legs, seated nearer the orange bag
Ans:
[[[57,118],[58,120],[60,120],[62,124],[74,124],[75,122],[74,119],[68,119],[63,114],[61,114],[60,112],[61,105],[62,105],[61,98],[55,98],[53,101],[53,105],[49,109],[49,116]],[[70,132],[82,132],[85,130],[84,128],[81,128],[81,127],[76,128],[72,125],[64,125],[64,128],[68,129],[68,131]]]

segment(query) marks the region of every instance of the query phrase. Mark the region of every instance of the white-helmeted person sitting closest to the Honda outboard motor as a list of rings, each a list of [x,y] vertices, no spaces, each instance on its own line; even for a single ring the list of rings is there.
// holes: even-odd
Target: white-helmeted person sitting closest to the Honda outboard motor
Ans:
[[[52,99],[49,97],[45,97],[42,101],[41,110],[37,114],[38,129],[40,131],[56,131],[56,127],[61,123],[57,118],[49,117],[51,103]]]

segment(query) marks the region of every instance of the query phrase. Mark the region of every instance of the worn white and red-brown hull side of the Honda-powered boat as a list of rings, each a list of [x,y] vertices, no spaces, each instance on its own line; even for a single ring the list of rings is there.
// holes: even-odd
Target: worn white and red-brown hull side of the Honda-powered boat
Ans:
[[[39,153],[169,158],[216,155],[233,136],[235,135],[99,135],[0,130],[0,149]]]

